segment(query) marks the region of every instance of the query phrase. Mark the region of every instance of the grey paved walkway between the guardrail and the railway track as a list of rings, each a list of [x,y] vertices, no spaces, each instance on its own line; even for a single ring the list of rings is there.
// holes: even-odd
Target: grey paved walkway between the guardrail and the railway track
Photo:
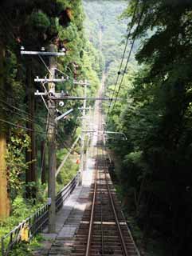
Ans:
[[[41,248],[33,252],[33,255],[69,255],[72,250],[72,241],[76,230],[80,225],[86,204],[88,193],[92,184],[92,173],[95,159],[88,159],[88,168],[84,170],[82,186],[76,186],[64,206],[57,213],[56,234],[43,233],[44,241]],[[45,230],[46,232],[46,230]]]

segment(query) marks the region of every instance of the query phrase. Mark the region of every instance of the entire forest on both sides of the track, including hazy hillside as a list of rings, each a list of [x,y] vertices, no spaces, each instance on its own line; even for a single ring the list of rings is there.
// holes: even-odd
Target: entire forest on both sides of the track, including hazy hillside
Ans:
[[[192,254],[192,2],[190,0],[33,0],[0,3],[0,237],[46,202],[48,114],[35,77],[49,77],[58,51],[57,90],[95,95],[103,78],[107,146],[114,182],[141,254]],[[57,166],[80,134],[78,101],[57,127]],[[122,133],[125,138],[122,137]],[[57,191],[76,174],[80,144],[57,176]],[[75,159],[75,161],[74,161]],[[24,246],[25,247],[25,246]],[[26,250],[28,252],[26,252]],[[26,247],[13,255],[30,255]]]

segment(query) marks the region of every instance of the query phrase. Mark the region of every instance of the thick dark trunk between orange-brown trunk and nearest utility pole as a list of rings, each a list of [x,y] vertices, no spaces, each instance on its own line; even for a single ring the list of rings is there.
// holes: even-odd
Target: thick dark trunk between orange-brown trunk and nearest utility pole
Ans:
[[[35,132],[34,132],[34,89],[32,82],[32,71],[30,67],[30,63],[28,63],[27,68],[27,78],[26,78],[26,101],[28,105],[29,112],[29,122],[26,123],[30,140],[31,140],[31,150],[26,152],[26,162],[29,162],[29,168],[25,173],[25,182],[36,182],[37,174],[36,174],[36,141],[35,141]],[[26,189],[26,197],[27,198],[36,198],[36,189],[33,187],[32,189],[27,186]]]

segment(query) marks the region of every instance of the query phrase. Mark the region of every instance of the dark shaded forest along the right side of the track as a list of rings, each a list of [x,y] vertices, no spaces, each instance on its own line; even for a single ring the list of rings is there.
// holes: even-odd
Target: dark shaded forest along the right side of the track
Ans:
[[[122,162],[120,190],[152,255],[151,239],[160,255],[192,253],[191,17],[187,0],[132,0],[121,15],[131,18],[137,67],[129,62],[121,73],[123,102],[112,104],[108,129],[127,136],[111,142]]]

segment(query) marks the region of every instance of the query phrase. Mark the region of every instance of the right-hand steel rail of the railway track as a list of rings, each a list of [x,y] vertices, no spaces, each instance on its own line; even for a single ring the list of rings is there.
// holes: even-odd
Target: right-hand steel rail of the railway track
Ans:
[[[121,230],[121,227],[120,227],[120,222],[119,222],[119,219],[118,219],[117,214],[116,214],[116,207],[115,207],[115,204],[114,204],[114,200],[112,198],[112,192],[111,192],[109,184],[108,184],[105,162],[104,162],[104,177],[105,177],[105,181],[106,181],[106,184],[107,184],[107,187],[108,187],[108,195],[109,195],[110,202],[111,202],[111,205],[112,205],[112,211],[113,211],[113,214],[114,214],[115,219],[116,219],[116,226],[117,226],[118,232],[120,234],[120,242],[121,242],[121,246],[122,246],[122,249],[123,249],[123,254],[125,256],[128,256],[127,247],[126,247],[126,244],[124,242],[123,233],[122,233],[122,230]]]

